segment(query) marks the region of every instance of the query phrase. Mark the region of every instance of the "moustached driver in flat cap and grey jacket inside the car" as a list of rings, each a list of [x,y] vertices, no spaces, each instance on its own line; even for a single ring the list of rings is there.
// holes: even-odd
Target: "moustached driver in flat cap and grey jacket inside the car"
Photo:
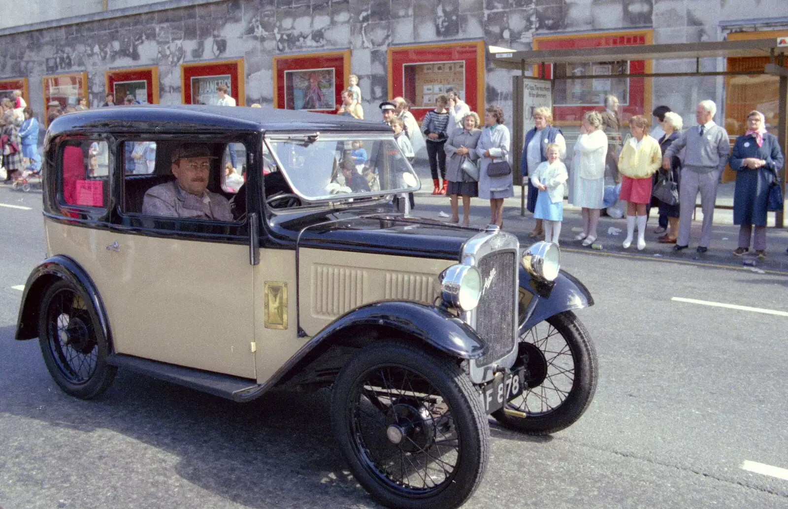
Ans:
[[[150,188],[143,198],[143,214],[232,221],[230,202],[208,191],[210,161],[216,159],[203,143],[183,143],[173,150],[173,182]]]

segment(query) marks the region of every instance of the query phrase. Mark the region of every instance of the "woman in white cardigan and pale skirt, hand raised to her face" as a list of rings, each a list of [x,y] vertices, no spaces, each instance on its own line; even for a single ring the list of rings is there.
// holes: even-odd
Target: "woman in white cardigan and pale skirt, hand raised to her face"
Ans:
[[[583,231],[574,237],[590,246],[597,240],[600,211],[604,209],[604,168],[608,155],[608,136],[602,131],[602,116],[587,111],[574,144],[572,188],[569,202],[582,209]]]

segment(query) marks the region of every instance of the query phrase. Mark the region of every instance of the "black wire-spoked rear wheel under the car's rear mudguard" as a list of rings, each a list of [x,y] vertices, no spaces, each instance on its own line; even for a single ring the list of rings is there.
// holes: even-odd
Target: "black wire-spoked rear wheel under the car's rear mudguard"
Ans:
[[[68,281],[44,293],[39,310],[39,344],[46,369],[71,396],[91,399],[112,385],[117,368],[106,363],[109,345],[95,310]]]

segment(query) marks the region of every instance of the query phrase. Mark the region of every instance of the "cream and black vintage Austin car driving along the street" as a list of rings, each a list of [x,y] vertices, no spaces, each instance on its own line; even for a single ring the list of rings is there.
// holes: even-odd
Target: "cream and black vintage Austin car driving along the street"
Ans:
[[[418,178],[383,124],[114,107],[58,117],[44,151],[47,258],[16,338],[69,395],[118,368],[240,403],[330,388],[351,473],[409,508],[473,494],[488,415],[554,433],[593,398],[572,311],[593,299],[559,248],[401,214]]]

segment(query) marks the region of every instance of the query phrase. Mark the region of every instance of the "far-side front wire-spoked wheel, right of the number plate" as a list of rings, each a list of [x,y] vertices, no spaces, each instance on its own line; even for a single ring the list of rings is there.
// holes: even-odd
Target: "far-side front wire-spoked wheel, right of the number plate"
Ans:
[[[525,388],[492,414],[507,428],[548,435],[574,424],[597,390],[597,352],[571,311],[556,314],[520,336]]]

